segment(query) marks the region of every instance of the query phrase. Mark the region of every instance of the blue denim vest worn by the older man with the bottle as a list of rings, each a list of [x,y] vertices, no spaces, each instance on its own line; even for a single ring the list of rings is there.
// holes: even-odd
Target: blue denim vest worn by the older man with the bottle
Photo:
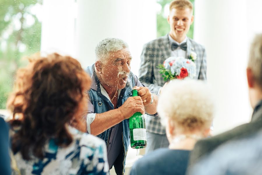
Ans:
[[[91,76],[91,79],[95,80],[95,81],[92,81],[91,88],[88,91],[90,101],[94,105],[94,113],[104,113],[104,112],[114,109],[114,106],[111,103],[111,101],[108,100],[101,93],[100,82],[94,71],[94,64],[92,66],[87,67],[86,71]],[[126,87],[121,90],[119,98],[117,100],[117,108],[122,106],[122,104],[127,100],[128,97],[132,97],[132,89],[135,86],[135,79],[134,79],[133,73],[130,72],[128,79],[129,80],[132,79],[132,82],[127,82]],[[97,90],[95,90],[94,87],[97,88]],[[127,153],[128,146],[130,143],[129,119],[123,120],[122,125],[123,125],[123,132],[122,132],[123,154],[117,157],[115,164],[114,164],[115,171],[117,172],[117,174],[124,174],[126,153]],[[103,139],[108,146],[109,129],[99,134],[98,137]]]

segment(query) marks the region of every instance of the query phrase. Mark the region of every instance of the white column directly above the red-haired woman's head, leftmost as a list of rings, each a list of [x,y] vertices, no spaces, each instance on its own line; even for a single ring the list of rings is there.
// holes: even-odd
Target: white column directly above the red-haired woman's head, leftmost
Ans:
[[[74,56],[75,1],[43,0],[41,52]]]

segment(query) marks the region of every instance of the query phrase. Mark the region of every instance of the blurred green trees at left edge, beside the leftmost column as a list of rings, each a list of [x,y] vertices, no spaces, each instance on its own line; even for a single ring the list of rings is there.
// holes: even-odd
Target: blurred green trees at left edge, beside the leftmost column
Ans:
[[[40,51],[41,22],[32,9],[41,0],[0,0],[0,109],[13,88],[14,74],[27,60],[21,59]]]

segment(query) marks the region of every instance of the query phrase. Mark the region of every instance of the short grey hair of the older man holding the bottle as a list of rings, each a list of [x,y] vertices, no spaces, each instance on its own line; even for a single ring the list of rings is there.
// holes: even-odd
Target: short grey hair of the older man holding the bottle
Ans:
[[[124,48],[128,48],[128,45],[122,39],[104,38],[96,46],[96,61],[100,60],[104,62],[108,58],[110,52],[117,52],[118,50],[122,50]]]

